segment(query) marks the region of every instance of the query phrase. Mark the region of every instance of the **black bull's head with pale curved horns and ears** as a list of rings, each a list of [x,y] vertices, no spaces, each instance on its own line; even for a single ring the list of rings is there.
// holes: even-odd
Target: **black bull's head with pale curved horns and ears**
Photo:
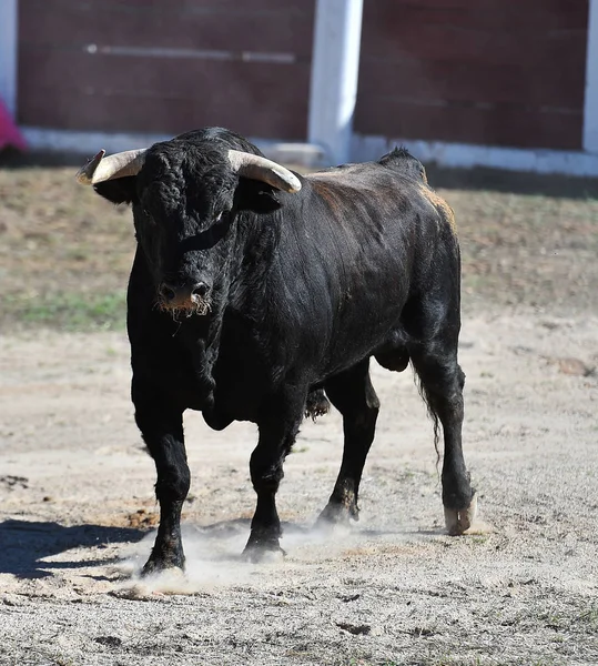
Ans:
[[[291,171],[261,155],[182,140],[108,158],[101,151],[77,176],[115,203],[132,203],[156,303],[175,319],[207,314],[226,289],[237,214],[271,213],[276,190],[301,190]]]

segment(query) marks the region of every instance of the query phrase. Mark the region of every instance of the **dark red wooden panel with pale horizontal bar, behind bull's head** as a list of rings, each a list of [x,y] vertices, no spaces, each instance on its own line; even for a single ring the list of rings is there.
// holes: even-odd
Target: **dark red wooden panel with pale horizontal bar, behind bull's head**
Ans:
[[[20,0],[19,122],[305,140],[314,0]]]

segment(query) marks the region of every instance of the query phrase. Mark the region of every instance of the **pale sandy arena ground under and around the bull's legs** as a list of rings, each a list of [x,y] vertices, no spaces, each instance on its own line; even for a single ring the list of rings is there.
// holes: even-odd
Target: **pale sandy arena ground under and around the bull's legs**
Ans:
[[[411,370],[382,411],[362,519],[318,534],[341,422],[305,423],[280,498],[283,562],[240,559],[252,424],[186,417],[186,578],[140,582],[154,468],[123,334],[0,337],[0,664],[598,663],[596,317],[466,317],[473,534],[443,531],[432,425]]]

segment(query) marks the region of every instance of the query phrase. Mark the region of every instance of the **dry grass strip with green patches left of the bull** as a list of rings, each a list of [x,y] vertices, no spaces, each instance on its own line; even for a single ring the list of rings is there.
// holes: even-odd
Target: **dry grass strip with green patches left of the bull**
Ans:
[[[69,168],[0,170],[2,329],[121,325],[134,251],[130,212]]]

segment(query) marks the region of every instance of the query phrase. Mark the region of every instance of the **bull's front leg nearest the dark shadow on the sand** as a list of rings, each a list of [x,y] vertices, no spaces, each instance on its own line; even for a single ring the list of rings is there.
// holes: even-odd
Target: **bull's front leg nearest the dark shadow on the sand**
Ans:
[[[160,503],[160,526],[142,575],[166,568],[183,568],[181,509],[189,492],[190,473],[183,437],[183,412],[168,397],[140,391],[133,380],[135,421],[155,462],[155,495]]]

